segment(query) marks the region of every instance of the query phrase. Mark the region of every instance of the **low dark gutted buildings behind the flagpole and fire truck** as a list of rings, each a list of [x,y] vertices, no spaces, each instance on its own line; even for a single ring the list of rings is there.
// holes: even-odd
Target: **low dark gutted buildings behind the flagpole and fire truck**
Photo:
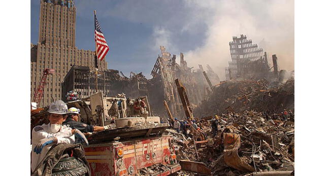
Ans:
[[[61,84],[61,99],[66,100],[65,96],[69,91],[77,92],[79,99],[87,98],[96,92],[102,92],[105,96],[115,96],[119,93],[126,93],[128,97],[148,95],[149,81],[142,73],[127,78],[123,74],[120,76],[119,71],[115,69],[104,69],[98,72],[97,91],[95,79],[94,69],[73,65]]]

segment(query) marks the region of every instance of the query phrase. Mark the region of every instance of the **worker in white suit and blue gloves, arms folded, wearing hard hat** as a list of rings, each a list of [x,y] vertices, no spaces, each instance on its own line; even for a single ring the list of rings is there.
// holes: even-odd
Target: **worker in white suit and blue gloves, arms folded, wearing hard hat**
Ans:
[[[50,105],[47,112],[50,123],[36,126],[31,132],[31,171],[33,172],[54,144],[73,144],[76,137],[88,145],[87,138],[81,131],[62,125],[67,119],[66,103],[57,100]]]

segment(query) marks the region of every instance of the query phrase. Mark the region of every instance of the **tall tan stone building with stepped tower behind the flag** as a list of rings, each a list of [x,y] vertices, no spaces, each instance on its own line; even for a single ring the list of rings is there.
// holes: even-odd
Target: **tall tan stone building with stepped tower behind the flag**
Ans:
[[[41,0],[40,4],[39,40],[37,45],[30,45],[30,95],[34,96],[44,69],[55,69],[55,74],[48,75],[44,97],[39,104],[44,107],[61,99],[60,84],[73,65],[94,69],[95,52],[75,46],[76,7],[73,0]],[[107,69],[105,59],[99,61],[99,69]]]

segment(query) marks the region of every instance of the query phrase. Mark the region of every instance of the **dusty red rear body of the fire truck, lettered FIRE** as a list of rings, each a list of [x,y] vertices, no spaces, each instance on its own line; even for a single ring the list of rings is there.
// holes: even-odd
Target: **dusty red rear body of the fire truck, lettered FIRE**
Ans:
[[[169,175],[181,169],[170,135],[85,147],[92,175]]]

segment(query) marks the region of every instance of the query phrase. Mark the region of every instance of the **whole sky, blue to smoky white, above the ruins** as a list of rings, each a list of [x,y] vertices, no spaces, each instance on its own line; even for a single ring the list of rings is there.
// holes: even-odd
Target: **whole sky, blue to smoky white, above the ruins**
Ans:
[[[75,0],[76,46],[94,50],[93,11],[110,51],[109,69],[125,76],[150,72],[160,54],[159,45],[176,55],[184,53],[188,66],[210,64],[221,79],[231,61],[229,42],[245,34],[253,43],[277,54],[280,69],[294,69],[294,1],[190,0]],[[38,41],[40,1],[31,0],[31,43]],[[272,65],[271,65],[272,66]]]

